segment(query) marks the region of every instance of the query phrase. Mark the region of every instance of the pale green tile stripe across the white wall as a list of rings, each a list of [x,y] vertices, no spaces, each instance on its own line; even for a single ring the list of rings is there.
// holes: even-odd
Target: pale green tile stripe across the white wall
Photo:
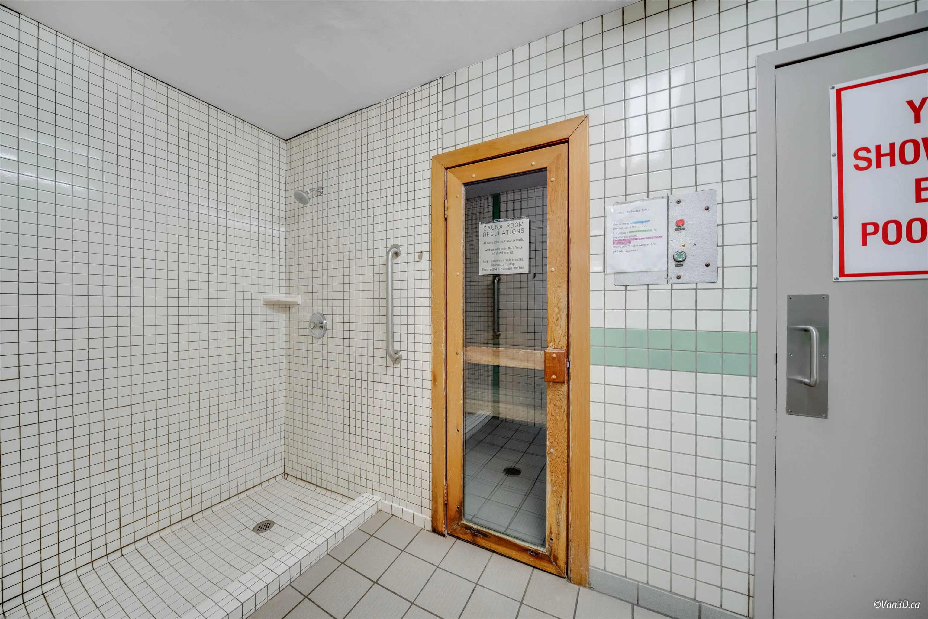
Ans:
[[[744,331],[590,329],[598,366],[757,375],[757,334]]]

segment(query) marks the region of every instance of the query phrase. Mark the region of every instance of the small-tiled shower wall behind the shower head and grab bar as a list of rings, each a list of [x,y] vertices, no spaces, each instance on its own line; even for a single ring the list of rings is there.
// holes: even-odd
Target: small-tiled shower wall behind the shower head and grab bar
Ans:
[[[285,471],[348,496],[363,492],[431,518],[431,165],[438,82],[287,142]],[[395,260],[394,365],[386,345],[386,253]],[[322,312],[329,331],[308,334]]]

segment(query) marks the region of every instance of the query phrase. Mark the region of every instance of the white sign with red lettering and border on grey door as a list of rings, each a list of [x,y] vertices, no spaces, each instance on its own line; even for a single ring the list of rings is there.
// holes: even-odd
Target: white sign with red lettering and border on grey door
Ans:
[[[831,86],[834,279],[928,277],[928,65]]]

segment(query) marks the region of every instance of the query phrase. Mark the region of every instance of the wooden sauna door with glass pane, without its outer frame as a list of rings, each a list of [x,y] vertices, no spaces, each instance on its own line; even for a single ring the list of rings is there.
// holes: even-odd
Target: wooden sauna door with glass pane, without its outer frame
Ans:
[[[568,147],[450,168],[447,530],[567,571]]]

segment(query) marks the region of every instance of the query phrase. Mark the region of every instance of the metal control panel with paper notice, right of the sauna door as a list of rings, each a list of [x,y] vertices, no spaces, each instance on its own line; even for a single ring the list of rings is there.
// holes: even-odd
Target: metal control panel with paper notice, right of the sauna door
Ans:
[[[613,283],[718,281],[716,201],[715,189],[706,189],[607,207],[605,267]]]

